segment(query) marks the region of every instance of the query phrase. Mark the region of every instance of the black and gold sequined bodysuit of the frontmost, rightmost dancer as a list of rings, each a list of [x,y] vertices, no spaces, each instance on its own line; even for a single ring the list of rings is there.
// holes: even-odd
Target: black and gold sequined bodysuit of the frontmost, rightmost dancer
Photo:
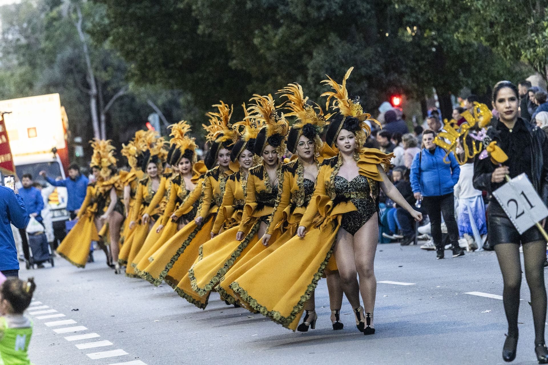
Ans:
[[[358,175],[351,181],[339,175],[335,176],[335,202],[350,200],[357,208],[357,211],[344,213],[341,221],[341,227],[351,235],[355,235],[376,212],[375,200],[370,192],[367,177],[363,175]]]

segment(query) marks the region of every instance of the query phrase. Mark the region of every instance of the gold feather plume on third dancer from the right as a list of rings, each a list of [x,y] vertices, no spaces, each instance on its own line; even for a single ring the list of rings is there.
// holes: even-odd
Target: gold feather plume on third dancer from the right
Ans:
[[[261,96],[253,94],[253,97],[249,99],[252,103],[248,107],[248,112],[253,113],[253,117],[258,123],[264,123],[266,126],[266,137],[270,137],[275,134],[286,136],[289,131],[289,124],[283,113],[278,113],[276,108],[282,107],[279,105],[276,107],[272,95]]]

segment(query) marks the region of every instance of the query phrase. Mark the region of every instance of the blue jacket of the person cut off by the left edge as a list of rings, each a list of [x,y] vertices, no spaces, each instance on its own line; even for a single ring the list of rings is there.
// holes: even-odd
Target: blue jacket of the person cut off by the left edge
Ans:
[[[19,270],[10,223],[22,229],[27,227],[30,218],[21,196],[3,186],[0,186],[0,218],[0,270]]]

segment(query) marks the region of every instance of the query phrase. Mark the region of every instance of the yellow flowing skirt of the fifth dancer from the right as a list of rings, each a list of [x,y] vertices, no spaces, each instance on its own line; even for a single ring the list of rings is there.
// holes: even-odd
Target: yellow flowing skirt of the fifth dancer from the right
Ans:
[[[162,247],[158,248],[149,257],[149,265],[142,270],[141,277],[153,285],[158,286],[162,283],[165,276],[168,275],[168,272],[174,268],[174,264],[178,261],[178,258],[183,252],[189,249],[189,255],[193,256],[194,251],[196,251],[196,256],[193,256],[192,263],[198,256],[199,246],[207,241],[204,239],[204,236],[211,237],[211,229],[213,227],[212,216],[204,219],[205,223],[201,226],[198,226],[194,220],[181,228],[173,237],[165,242]],[[192,241],[199,236],[199,245],[194,245]],[[196,246],[196,247],[195,247]],[[191,263],[191,264],[192,264]],[[190,266],[190,265],[189,265]],[[177,267],[174,268],[178,269]],[[187,269],[188,270],[188,269]]]

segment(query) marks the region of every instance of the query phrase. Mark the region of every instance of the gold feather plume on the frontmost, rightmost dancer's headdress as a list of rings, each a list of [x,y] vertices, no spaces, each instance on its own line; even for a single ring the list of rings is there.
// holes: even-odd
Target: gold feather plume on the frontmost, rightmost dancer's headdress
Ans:
[[[327,96],[326,108],[332,107],[333,109],[339,109],[339,112],[345,117],[356,117],[359,121],[365,120],[372,121],[380,126],[378,120],[371,118],[371,114],[364,113],[363,108],[359,105],[359,102],[349,99],[348,90],[346,89],[346,80],[350,77],[350,73],[354,67],[350,67],[343,79],[343,84],[339,85],[328,75],[327,80],[322,80],[322,84],[331,86],[334,91],[326,91],[321,96]],[[333,103],[330,101],[333,100]]]

